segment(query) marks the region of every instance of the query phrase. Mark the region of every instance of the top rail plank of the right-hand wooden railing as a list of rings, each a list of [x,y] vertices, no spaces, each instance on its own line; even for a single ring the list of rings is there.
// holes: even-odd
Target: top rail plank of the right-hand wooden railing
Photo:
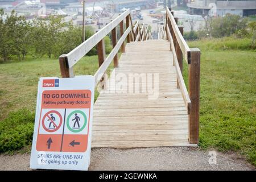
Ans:
[[[180,49],[184,55],[185,60],[188,64],[190,64],[191,61],[191,54],[190,54],[190,48],[188,47],[188,44],[185,42],[183,36],[180,34],[179,28],[177,27],[177,24],[175,22],[174,16],[171,14],[170,10],[166,9],[168,18],[170,19],[171,26],[174,30],[175,37],[177,39],[177,42],[179,43]]]

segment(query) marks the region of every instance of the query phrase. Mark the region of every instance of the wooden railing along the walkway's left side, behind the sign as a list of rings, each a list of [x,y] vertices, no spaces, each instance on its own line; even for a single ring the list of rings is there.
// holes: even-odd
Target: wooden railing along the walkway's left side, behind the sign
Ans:
[[[123,32],[123,22],[126,21],[126,31]],[[121,38],[117,41],[117,26],[120,27]],[[138,30],[137,30],[138,28]],[[113,50],[110,52],[109,56],[106,58],[105,52],[105,43],[104,38],[110,32],[112,32],[112,44]],[[100,68],[96,72],[96,84],[98,83],[104,73],[105,68],[108,68],[109,63],[114,59],[114,67],[118,67],[118,51],[121,48],[122,52],[125,52],[125,39],[127,38],[127,43],[130,41],[138,41],[140,39],[143,41],[144,39],[141,37],[141,32],[145,35],[146,32],[144,30],[144,25],[141,30],[139,30],[139,21],[133,27],[133,22],[131,20],[130,9],[126,10],[124,13],[119,15],[117,18],[112,20],[109,24],[103,27],[96,34],[91,36],[85,42],[81,43],[71,52],[67,53],[67,55],[61,55],[59,57],[60,63],[60,72],[62,77],[74,77],[73,66],[88,53],[93,47],[97,46],[98,51],[98,62]],[[135,40],[135,36],[139,36],[139,38]]]

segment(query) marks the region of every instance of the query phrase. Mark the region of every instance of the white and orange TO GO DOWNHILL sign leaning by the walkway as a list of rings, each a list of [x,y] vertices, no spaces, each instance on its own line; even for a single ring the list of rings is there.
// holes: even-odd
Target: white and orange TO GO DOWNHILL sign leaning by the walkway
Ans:
[[[40,78],[30,168],[88,170],[94,77]]]

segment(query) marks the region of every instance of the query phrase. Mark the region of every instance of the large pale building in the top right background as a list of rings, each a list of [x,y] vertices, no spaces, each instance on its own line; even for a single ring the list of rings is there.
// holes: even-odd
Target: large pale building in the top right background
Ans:
[[[240,16],[256,15],[256,0],[191,0],[187,3],[189,14],[212,14],[224,16],[236,14]]]

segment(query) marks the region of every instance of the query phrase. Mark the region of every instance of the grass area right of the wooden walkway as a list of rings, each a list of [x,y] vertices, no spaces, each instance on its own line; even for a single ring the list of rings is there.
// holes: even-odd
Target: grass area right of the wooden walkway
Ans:
[[[201,50],[200,146],[238,152],[256,165],[256,53],[214,42],[189,42]]]

